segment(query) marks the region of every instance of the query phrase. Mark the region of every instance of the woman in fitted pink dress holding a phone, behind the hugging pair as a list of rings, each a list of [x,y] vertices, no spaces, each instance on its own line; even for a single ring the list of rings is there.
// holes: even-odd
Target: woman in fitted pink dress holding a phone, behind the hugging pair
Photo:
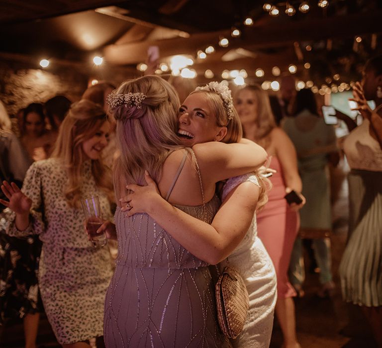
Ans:
[[[260,86],[240,89],[235,106],[243,125],[244,136],[263,146],[272,156],[270,167],[277,172],[271,177],[273,184],[269,201],[257,215],[259,237],[264,243],[276,269],[278,299],[276,314],[284,335],[285,348],[299,347],[295,331],[292,296],[296,293],[287,277],[290,255],[298,230],[296,210],[303,205],[301,179],[297,170],[297,156],[286,133],[276,126],[269,97]],[[302,199],[288,206],[284,196],[294,190]]]

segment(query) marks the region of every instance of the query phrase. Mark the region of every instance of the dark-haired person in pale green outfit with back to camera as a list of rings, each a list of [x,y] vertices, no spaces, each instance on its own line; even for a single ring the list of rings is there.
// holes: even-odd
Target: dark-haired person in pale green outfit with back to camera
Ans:
[[[334,127],[318,116],[317,103],[310,89],[297,92],[295,115],[283,119],[283,129],[297,151],[298,173],[302,180],[302,194],[306,204],[300,209],[300,234],[313,238],[315,260],[320,267],[321,289],[318,296],[325,297],[335,288],[331,270],[330,239],[332,229],[329,155],[337,154]],[[289,265],[289,279],[301,294],[305,280],[301,237],[297,236]]]

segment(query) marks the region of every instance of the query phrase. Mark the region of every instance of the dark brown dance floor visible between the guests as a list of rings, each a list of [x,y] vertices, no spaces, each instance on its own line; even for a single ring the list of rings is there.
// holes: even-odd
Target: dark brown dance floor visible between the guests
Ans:
[[[337,169],[333,176],[336,199],[333,204],[333,235],[331,243],[336,290],[330,298],[321,299],[316,295],[319,290],[318,274],[309,272],[310,261],[305,252],[305,296],[295,299],[297,337],[302,348],[376,347],[359,308],[347,305],[341,298],[338,265],[345,248],[348,228],[348,192],[347,182],[343,180],[343,177],[344,174],[341,168]],[[39,348],[60,347],[45,317],[40,322],[37,344]],[[21,323],[2,328],[0,332],[0,348],[21,348],[23,346]],[[281,346],[281,329],[277,320],[275,320],[271,348]]]

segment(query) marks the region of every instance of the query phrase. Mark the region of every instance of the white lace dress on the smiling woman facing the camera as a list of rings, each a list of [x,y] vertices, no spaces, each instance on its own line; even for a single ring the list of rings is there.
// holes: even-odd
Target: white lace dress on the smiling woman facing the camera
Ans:
[[[259,185],[254,174],[245,174],[228,179],[223,187],[222,201],[227,194],[242,182]],[[235,267],[243,277],[249,294],[249,314],[244,329],[232,341],[233,347],[269,347],[277,300],[276,272],[262,241],[257,237],[256,215],[244,239],[221,266]]]

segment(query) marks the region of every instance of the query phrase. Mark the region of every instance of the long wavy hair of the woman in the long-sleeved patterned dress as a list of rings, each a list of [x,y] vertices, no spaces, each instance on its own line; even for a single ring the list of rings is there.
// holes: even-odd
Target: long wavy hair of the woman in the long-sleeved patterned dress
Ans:
[[[60,159],[64,164],[68,174],[64,195],[72,207],[78,207],[81,199],[82,164],[86,160],[82,144],[92,138],[104,122],[106,115],[103,109],[90,100],[82,99],[72,104],[60,126],[52,157]],[[92,160],[92,174],[95,184],[109,198],[112,197],[111,175],[101,160]]]

